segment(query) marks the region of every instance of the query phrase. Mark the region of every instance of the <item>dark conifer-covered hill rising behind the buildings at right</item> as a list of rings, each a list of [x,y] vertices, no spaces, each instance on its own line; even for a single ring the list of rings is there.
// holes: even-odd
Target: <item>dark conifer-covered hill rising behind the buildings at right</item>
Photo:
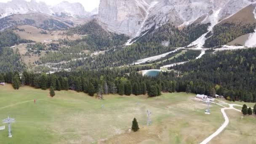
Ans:
[[[256,101],[256,49],[222,51],[173,67],[185,75],[179,78],[177,91],[217,94],[232,100]],[[172,68],[171,68],[172,69]],[[189,85],[192,81],[193,85]]]

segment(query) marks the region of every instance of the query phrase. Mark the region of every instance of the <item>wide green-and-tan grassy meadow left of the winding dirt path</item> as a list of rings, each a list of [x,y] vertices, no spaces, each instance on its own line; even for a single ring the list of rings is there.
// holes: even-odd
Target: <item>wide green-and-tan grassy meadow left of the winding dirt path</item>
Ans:
[[[107,95],[99,100],[75,91],[55,92],[51,98],[49,91],[0,86],[0,119],[16,120],[11,124],[12,138],[8,138],[7,125],[0,131],[1,143],[198,144],[224,122],[221,107],[212,105],[211,115],[205,115],[207,105],[195,101],[195,94]],[[150,126],[147,109],[152,112]],[[133,117],[140,127],[135,133],[129,131]]]

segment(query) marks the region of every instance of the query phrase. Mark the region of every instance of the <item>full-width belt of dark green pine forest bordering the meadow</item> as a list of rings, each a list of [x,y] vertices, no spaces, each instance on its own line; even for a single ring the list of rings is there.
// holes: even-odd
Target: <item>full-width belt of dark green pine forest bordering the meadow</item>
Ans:
[[[8,72],[0,75],[0,81],[19,82],[21,85],[31,85],[43,90],[53,86],[58,91],[71,89],[89,93],[91,96],[95,93],[147,93],[151,97],[159,96],[161,92],[177,91],[208,96],[219,94],[232,101],[256,102],[255,65],[256,49],[246,49],[208,53],[201,59],[172,67],[174,71],[160,72],[156,77],[142,76],[138,73],[139,70],[152,67],[132,66],[57,72],[51,75],[26,71],[22,74]]]

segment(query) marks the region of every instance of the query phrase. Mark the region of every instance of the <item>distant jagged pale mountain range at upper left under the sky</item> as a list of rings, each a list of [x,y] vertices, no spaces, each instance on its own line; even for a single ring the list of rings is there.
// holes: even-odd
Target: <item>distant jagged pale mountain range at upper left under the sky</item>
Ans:
[[[94,11],[93,14],[96,12]],[[31,25],[47,30],[62,30],[91,20],[91,13],[80,3],[63,1],[49,6],[35,0],[12,0],[0,3],[0,30]]]

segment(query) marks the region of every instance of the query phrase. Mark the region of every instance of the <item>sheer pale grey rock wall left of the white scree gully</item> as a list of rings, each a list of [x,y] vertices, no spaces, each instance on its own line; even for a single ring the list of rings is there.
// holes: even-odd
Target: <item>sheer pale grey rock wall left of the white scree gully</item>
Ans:
[[[99,21],[110,31],[136,35],[152,0],[101,0]]]

